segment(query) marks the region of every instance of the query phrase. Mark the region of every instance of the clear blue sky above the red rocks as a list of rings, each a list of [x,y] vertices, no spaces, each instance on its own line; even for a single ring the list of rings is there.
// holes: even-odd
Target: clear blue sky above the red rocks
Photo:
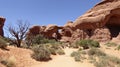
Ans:
[[[17,20],[32,25],[64,25],[74,21],[100,0],[0,0],[0,16],[6,18],[5,26]]]

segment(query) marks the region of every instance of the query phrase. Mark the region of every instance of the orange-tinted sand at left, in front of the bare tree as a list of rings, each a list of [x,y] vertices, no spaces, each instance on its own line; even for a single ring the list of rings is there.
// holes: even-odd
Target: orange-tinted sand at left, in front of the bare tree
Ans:
[[[2,58],[8,58],[8,57],[14,57],[15,58],[15,65],[16,67],[30,67],[31,65],[34,65],[36,63],[40,63],[35,61],[31,58],[32,51],[28,49],[23,48],[17,48],[13,46],[8,46],[7,50],[1,50],[0,49],[0,57]],[[0,67],[4,67],[2,64],[0,64]]]

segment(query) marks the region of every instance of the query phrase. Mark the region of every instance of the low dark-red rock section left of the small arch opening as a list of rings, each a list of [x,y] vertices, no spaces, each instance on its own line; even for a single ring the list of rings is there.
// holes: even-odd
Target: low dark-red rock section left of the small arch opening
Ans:
[[[55,38],[58,35],[58,26],[33,26],[29,29],[28,36],[41,34],[46,38]]]

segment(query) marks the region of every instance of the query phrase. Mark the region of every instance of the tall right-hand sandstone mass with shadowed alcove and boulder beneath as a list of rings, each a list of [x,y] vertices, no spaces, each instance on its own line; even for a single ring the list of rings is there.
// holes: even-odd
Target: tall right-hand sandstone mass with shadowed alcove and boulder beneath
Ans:
[[[78,17],[71,28],[86,30],[91,39],[101,42],[117,37],[120,32],[120,0],[104,0],[98,3]]]

